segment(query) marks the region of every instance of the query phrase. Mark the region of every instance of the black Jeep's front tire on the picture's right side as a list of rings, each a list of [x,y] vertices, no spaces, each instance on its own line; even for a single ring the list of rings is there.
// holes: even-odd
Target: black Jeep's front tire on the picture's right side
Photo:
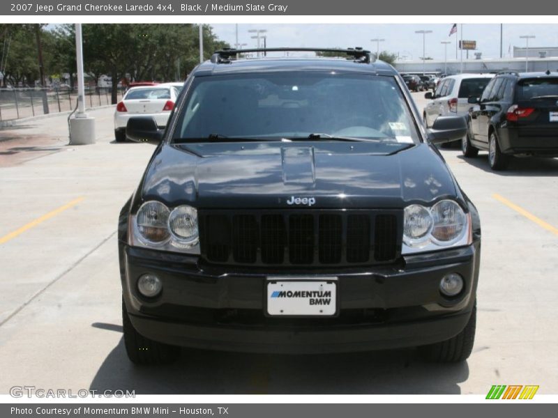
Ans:
[[[421,355],[429,362],[459,363],[465,362],[473,350],[476,328],[476,303],[465,328],[451,339],[430,346],[419,347]]]

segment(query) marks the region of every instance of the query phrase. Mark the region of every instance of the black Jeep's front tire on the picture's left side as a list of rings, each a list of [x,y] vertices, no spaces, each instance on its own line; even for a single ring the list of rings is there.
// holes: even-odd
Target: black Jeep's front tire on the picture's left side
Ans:
[[[135,330],[124,300],[122,300],[122,326],[126,354],[134,364],[172,363],[180,357],[179,347],[153,341]]]

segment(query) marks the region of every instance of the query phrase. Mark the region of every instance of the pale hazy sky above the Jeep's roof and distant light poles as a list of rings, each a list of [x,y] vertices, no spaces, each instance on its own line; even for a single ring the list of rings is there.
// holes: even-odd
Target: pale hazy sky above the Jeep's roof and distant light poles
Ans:
[[[214,32],[232,46],[236,42],[234,24],[211,24]],[[447,24],[239,24],[239,43],[256,47],[257,40],[251,39],[255,33],[249,29],[266,29],[267,47],[364,47],[372,52],[377,50],[377,42],[370,39],[385,39],[379,43],[380,51],[386,50],[406,59],[419,60],[423,56],[423,36],[415,31],[432,31],[425,36],[425,56],[444,60],[444,45],[440,42],[451,41],[447,45],[448,60],[455,59],[455,40],[461,38],[461,25],[458,33],[449,36],[453,26]],[[477,50],[483,59],[500,56],[499,24],[463,24],[463,39],[476,40]],[[556,24],[504,24],[504,58],[513,54],[513,46],[525,47],[522,35],[534,35],[529,39],[529,47],[558,47],[558,25]],[[262,41],[263,46],[263,41]],[[465,52],[464,52],[465,57]],[[469,52],[474,59],[474,53]]]

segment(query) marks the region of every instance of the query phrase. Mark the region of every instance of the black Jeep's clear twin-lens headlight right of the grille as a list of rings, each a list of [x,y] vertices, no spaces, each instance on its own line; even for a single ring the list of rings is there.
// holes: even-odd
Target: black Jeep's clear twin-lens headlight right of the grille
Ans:
[[[471,244],[471,217],[452,200],[405,208],[402,254]]]

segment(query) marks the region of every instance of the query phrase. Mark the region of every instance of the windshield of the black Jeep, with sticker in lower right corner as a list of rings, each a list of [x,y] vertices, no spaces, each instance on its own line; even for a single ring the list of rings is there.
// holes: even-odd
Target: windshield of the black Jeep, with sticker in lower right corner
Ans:
[[[174,141],[235,137],[418,142],[393,77],[335,72],[197,77]]]

